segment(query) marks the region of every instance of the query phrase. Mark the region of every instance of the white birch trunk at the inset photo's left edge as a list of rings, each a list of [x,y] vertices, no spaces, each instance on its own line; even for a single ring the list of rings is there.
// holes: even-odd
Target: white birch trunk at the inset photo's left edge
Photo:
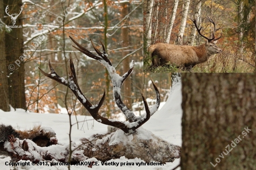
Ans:
[[[147,48],[151,44],[151,17],[153,10],[154,0],[144,0],[144,34],[146,36]]]

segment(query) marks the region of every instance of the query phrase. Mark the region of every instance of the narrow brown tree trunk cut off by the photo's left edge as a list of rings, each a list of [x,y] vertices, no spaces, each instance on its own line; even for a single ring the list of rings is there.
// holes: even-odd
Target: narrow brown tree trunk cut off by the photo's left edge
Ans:
[[[4,18],[4,3],[0,1],[0,20]],[[0,109],[3,111],[10,111],[8,98],[8,83],[7,83],[7,64],[5,56],[5,26],[0,28]],[[1,31],[2,30],[2,31]]]

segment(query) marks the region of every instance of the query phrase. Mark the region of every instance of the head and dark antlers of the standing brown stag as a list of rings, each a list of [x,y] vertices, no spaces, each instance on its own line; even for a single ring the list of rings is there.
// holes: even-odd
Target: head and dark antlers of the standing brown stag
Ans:
[[[215,38],[215,33],[216,33],[216,31],[218,31],[220,28],[217,28],[217,29],[216,29],[215,21],[213,21],[212,18],[209,18],[209,16],[207,16],[207,19],[208,19],[208,20],[213,24],[213,26],[214,26],[213,33],[212,33],[212,35],[213,35],[212,38],[208,38],[208,37],[204,36],[204,35],[201,33],[202,26],[201,26],[200,28],[198,28],[197,23],[196,23],[196,20],[192,20],[192,19],[190,18],[190,20],[192,20],[192,21],[194,22],[195,28],[196,28],[197,32],[198,32],[203,38],[207,39],[206,42],[205,42],[205,47],[206,47],[206,50],[207,50],[208,54],[209,54],[209,55],[213,55],[213,54],[217,54],[217,53],[222,52],[222,49],[221,49],[220,47],[216,46],[217,40],[222,37],[222,31],[221,31],[221,36],[218,37],[218,38]]]

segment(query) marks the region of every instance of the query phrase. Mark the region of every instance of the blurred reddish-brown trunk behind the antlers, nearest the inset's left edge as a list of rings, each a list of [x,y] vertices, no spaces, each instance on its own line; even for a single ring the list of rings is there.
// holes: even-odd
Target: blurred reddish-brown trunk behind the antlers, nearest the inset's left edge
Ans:
[[[122,12],[121,12],[121,18],[124,18],[125,16],[128,15],[128,5],[129,3],[121,3],[122,6]],[[128,47],[129,46],[129,29],[128,27],[122,27],[121,28],[121,36],[122,36],[122,47]],[[122,57],[126,56],[128,54],[128,49],[127,50],[123,50],[122,51]],[[122,61],[122,65],[123,65],[123,72],[127,72],[130,69],[130,58],[127,57],[126,59],[124,59]],[[132,88],[131,88],[131,78],[128,77],[124,83],[123,83],[123,90],[124,90],[124,104],[128,107],[131,108],[132,107]]]

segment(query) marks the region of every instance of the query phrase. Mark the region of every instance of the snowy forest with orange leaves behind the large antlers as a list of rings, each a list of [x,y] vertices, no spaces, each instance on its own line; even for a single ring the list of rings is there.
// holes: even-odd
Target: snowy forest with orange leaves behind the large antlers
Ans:
[[[19,13],[16,26],[6,13]],[[90,39],[101,49],[100,40],[107,48],[108,57],[118,73],[123,74],[135,60],[134,72],[122,88],[123,100],[136,111],[143,108],[140,91],[148,100],[154,98],[149,73],[143,73],[143,2],[142,0],[41,1],[0,0],[0,109],[22,108],[38,113],[74,113],[87,111],[67,88],[42,75],[38,67],[48,72],[48,60],[60,76],[66,77],[65,58],[73,56],[81,91],[92,103],[102,96],[107,98],[101,107],[102,116],[116,117],[120,111],[114,105],[111,82],[103,65],[72,47],[73,37],[94,52]],[[7,25],[7,26],[6,26]],[[14,66],[14,68],[13,68]],[[13,69],[13,70],[12,70]],[[165,101],[170,88],[170,74],[150,75]],[[126,89],[126,90],[124,90]],[[150,100],[152,104],[154,100]]]

